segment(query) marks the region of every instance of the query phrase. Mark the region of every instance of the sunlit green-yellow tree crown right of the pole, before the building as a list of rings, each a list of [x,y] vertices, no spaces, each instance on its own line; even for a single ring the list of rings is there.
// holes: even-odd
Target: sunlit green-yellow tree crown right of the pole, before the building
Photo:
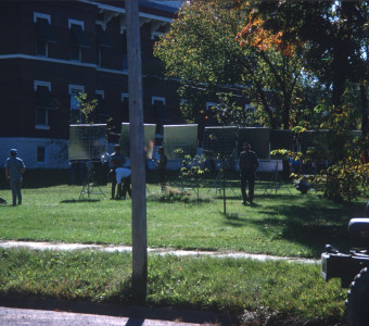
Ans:
[[[155,45],[155,55],[165,62],[168,77],[181,80],[180,96],[189,100],[184,113],[192,121],[202,116],[202,99],[221,95],[225,85],[243,85],[244,96],[263,110],[266,125],[289,128],[302,60],[275,43],[256,47],[243,38],[247,30],[237,38],[251,20],[257,21],[255,5],[241,2],[191,1]]]

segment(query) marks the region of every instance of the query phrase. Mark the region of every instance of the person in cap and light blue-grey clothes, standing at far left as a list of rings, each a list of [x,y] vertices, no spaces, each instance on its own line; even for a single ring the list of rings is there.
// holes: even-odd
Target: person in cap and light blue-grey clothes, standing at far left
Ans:
[[[17,204],[22,204],[22,177],[24,172],[26,171],[26,166],[22,159],[16,156],[17,150],[10,150],[10,158],[7,159],[5,163],[5,178],[10,183],[10,188],[12,189],[13,196],[13,206]]]

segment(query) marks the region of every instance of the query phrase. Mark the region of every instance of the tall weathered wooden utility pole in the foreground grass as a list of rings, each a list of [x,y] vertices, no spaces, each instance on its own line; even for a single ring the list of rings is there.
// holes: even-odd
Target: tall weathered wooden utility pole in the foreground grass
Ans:
[[[132,180],[132,292],[147,300],[148,239],[139,1],[126,0],[130,168]]]

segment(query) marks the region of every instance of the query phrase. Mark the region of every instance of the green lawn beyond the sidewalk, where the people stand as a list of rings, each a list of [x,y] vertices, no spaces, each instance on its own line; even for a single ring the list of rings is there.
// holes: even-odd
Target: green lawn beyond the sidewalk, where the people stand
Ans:
[[[271,185],[272,186],[272,185]],[[214,198],[214,188],[201,188],[209,201],[160,202],[156,184],[148,185],[149,247],[231,250],[250,253],[316,258],[326,243],[347,249],[347,223],[362,215],[365,201],[340,205],[301,195],[283,186],[265,193],[268,184],[256,188],[256,206],[241,204],[236,181],[222,198]],[[23,204],[0,205],[0,239],[61,241],[84,243],[131,243],[131,200],[110,200],[110,187],[101,195],[79,200],[81,186],[59,185],[23,189]],[[96,190],[99,190],[96,188]],[[233,191],[234,192],[233,192]],[[99,191],[97,191],[99,192]],[[219,192],[217,193],[219,195]],[[0,189],[0,197],[11,201],[11,192]]]

